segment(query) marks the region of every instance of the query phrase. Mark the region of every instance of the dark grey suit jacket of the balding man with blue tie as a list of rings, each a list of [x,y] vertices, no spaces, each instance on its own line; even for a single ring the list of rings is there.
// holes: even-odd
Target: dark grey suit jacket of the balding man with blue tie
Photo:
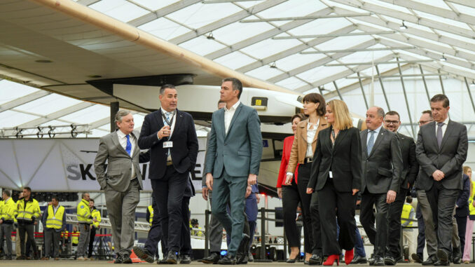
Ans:
[[[368,155],[366,139],[368,130],[360,132],[362,139],[362,192],[387,193],[392,190],[399,192],[401,184],[402,159],[399,139],[394,132],[381,128],[378,138]]]

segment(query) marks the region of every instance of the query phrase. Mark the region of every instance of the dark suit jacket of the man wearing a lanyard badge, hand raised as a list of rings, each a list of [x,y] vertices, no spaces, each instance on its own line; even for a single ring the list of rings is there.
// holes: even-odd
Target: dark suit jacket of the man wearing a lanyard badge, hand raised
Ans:
[[[176,120],[175,127],[170,138],[173,147],[170,153],[175,170],[185,173],[195,168],[198,137],[196,137],[195,123],[190,114],[177,109],[174,120]],[[167,141],[167,138],[159,140],[157,136],[161,128],[163,128],[163,117],[160,109],[145,116],[138,144],[140,149],[150,149],[150,179],[161,179],[167,170],[168,149],[163,148],[163,142]]]

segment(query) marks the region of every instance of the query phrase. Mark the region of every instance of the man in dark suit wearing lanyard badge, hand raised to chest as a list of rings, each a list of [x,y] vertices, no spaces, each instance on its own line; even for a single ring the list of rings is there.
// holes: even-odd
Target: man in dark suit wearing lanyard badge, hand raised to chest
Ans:
[[[163,85],[159,98],[161,107],[145,116],[138,144],[141,149],[150,149],[149,178],[163,218],[163,240],[167,240],[168,249],[165,261],[174,264],[181,247],[181,205],[188,173],[195,167],[198,137],[191,115],[177,109],[174,85]]]

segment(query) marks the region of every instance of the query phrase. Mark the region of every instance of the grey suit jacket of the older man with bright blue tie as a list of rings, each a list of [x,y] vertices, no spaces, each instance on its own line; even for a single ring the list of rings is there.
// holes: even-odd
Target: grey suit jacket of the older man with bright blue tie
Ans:
[[[140,149],[137,145],[139,135],[138,132],[132,132],[131,135],[135,137],[136,142],[132,156],[129,156],[121,146],[117,132],[111,132],[99,140],[99,150],[94,160],[94,171],[102,190],[110,187],[115,191],[126,191],[130,184],[130,172],[132,172],[130,162],[134,165],[140,189],[144,189],[139,166]],[[106,164],[106,161],[108,164]]]

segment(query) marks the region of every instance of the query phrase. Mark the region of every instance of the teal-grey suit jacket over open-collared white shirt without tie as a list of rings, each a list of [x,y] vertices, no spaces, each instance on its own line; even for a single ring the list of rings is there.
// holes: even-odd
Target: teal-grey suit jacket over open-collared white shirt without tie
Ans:
[[[223,169],[230,176],[259,174],[262,156],[261,121],[256,109],[240,104],[224,128],[224,110],[214,111],[206,152],[205,174],[221,177]]]

